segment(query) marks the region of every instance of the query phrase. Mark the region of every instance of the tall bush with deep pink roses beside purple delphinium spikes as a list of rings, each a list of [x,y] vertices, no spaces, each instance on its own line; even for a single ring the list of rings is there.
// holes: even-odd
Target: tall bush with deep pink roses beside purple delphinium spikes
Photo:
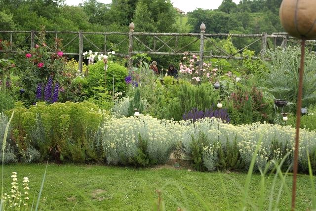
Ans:
[[[44,37],[41,36],[39,43],[35,44],[28,52],[20,51],[21,61],[17,68],[20,70],[21,86],[25,90],[25,95],[32,96],[36,93],[37,96],[34,99],[29,99],[29,103],[41,99],[38,96],[42,96],[44,93],[44,86],[48,79],[52,80],[52,85],[57,84],[58,88],[68,85],[69,77],[64,72],[67,58],[60,50],[60,46],[60,40],[55,39],[53,47],[49,48]],[[50,49],[54,50],[55,53],[50,53]],[[57,96],[57,92],[54,94]]]

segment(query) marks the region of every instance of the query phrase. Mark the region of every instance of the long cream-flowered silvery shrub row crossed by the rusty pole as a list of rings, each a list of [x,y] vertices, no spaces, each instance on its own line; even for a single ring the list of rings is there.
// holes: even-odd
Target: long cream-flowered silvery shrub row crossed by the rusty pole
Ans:
[[[194,164],[201,163],[207,170],[225,169],[225,167],[248,169],[258,144],[257,170],[265,169],[272,160],[279,161],[288,152],[290,156],[285,160],[283,168],[287,169],[293,160],[295,128],[290,126],[282,127],[266,123],[233,126],[220,122],[218,129],[218,120],[215,118],[205,118],[195,123],[182,121],[180,126],[184,131],[182,135],[184,152]],[[204,134],[205,137],[197,141],[200,134]],[[306,172],[308,171],[307,151],[311,158],[316,154],[316,132],[301,129],[299,147],[299,169]],[[228,158],[221,155],[223,152]],[[226,164],[223,166],[223,163]],[[315,171],[316,159],[312,159],[311,164]]]

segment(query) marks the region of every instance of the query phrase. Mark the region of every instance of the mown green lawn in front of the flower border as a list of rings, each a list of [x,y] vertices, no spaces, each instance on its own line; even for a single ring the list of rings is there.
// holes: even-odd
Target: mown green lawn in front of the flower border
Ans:
[[[45,165],[4,166],[4,192],[9,193],[11,172],[16,171],[19,189],[24,176],[30,180],[30,198],[37,199]],[[266,177],[266,209],[274,175]],[[166,210],[240,210],[245,173],[197,172],[188,169],[54,165],[47,167],[42,191],[42,210],[153,210],[161,191]],[[315,179],[315,177],[314,177]],[[286,183],[291,191],[292,177]],[[277,180],[273,201],[278,194]],[[247,203],[258,205],[260,175],[252,176]],[[279,209],[289,210],[285,191]],[[311,209],[311,184],[307,175],[298,176],[298,210]],[[36,203],[35,199],[35,203]],[[32,204],[32,202],[31,202]],[[255,210],[255,207],[249,208]]]

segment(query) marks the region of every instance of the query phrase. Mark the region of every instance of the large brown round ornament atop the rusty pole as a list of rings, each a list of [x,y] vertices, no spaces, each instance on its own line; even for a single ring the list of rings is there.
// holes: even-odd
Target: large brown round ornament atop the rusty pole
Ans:
[[[279,10],[285,31],[298,39],[316,39],[316,0],[283,0]]]

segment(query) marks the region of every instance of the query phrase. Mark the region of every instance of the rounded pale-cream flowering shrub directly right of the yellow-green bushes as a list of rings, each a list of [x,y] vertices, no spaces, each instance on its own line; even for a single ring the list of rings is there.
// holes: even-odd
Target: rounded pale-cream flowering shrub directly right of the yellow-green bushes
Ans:
[[[102,128],[109,164],[148,166],[165,163],[181,140],[179,124],[149,115],[113,118]]]

